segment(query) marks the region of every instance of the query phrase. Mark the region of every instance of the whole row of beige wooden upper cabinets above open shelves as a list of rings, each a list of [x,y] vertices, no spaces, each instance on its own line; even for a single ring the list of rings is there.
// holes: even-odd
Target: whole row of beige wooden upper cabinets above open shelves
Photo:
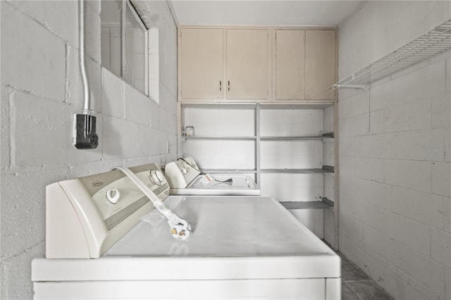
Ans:
[[[335,30],[182,28],[178,51],[179,101],[335,100]]]

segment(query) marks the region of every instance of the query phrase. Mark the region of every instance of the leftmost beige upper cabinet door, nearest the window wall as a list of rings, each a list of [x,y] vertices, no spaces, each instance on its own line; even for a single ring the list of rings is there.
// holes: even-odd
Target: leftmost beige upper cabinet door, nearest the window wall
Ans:
[[[184,29],[180,35],[180,96],[223,98],[223,30]]]

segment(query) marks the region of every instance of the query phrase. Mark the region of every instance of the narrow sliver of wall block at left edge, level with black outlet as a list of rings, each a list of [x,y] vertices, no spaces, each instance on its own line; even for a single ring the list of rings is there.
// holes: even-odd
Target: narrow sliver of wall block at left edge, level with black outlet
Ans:
[[[1,86],[1,106],[0,106],[0,168],[5,170],[11,166],[11,145],[10,145],[10,120],[9,120],[9,97],[13,91]]]

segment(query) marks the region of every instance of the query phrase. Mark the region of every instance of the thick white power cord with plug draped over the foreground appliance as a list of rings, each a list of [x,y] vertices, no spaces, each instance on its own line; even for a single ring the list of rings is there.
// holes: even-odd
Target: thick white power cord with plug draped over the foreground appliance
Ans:
[[[187,220],[180,218],[178,215],[173,213],[166,205],[163,204],[161,199],[159,199],[154,192],[152,192],[147,185],[144,184],[132,171],[125,167],[113,168],[116,170],[121,170],[130,180],[146,195],[154,207],[159,213],[161,213],[167,220],[169,227],[171,227],[171,235],[175,238],[187,239],[191,235],[191,226]]]

